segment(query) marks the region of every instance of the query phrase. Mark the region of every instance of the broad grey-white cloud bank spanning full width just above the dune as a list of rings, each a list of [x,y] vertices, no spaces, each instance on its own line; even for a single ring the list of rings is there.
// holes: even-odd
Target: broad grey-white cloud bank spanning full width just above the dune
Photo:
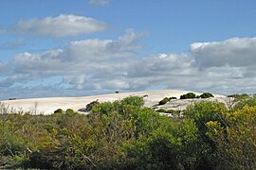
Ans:
[[[24,97],[34,90],[36,96],[85,95],[157,87],[211,93],[256,91],[255,38],[196,42],[188,53],[141,58],[137,52],[143,50],[143,35],[127,29],[115,40],[87,39],[39,54],[17,54],[0,63],[0,94],[15,92]]]

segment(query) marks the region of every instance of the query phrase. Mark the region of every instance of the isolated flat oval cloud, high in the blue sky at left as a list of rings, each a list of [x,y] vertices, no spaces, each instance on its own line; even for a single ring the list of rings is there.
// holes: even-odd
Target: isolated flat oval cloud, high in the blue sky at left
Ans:
[[[93,18],[62,14],[44,19],[20,20],[8,32],[61,38],[101,32],[106,28],[105,23]]]

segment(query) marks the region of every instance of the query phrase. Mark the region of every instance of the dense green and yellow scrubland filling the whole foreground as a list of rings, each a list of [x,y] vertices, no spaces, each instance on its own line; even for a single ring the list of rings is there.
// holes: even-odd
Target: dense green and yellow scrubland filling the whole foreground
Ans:
[[[199,102],[170,118],[131,96],[88,115],[0,114],[0,168],[256,169],[256,97]]]

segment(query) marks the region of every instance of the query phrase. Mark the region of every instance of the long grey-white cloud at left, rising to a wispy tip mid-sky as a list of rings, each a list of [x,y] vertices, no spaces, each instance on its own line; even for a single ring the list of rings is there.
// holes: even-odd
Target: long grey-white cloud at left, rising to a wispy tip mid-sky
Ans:
[[[123,40],[123,36],[129,41]],[[116,61],[130,59],[135,55],[137,36],[134,30],[126,31],[118,40],[89,39],[70,42],[64,49],[48,50],[40,54],[28,52],[16,55],[9,61],[9,67],[16,73],[35,75],[59,75],[66,72],[78,73],[94,68],[105,69]],[[106,65],[108,64],[108,65]],[[116,67],[119,64],[116,64]],[[64,68],[64,69],[61,69]]]

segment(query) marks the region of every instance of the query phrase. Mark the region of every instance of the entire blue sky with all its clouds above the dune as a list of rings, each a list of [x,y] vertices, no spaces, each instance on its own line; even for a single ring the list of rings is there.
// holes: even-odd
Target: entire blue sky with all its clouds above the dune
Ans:
[[[0,99],[256,92],[255,0],[2,0]]]

